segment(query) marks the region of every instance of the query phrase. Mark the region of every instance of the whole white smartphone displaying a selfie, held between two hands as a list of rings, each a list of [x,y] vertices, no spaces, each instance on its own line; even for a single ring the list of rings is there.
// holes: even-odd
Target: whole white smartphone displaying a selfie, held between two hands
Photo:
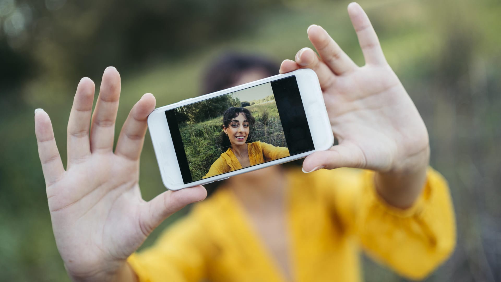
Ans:
[[[169,190],[289,162],[334,143],[311,69],[157,108],[148,127]]]

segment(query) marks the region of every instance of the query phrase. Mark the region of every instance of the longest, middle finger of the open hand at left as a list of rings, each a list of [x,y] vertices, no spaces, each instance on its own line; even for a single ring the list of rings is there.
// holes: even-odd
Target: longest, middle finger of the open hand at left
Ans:
[[[120,75],[114,67],[108,67],[104,71],[96,109],[92,115],[91,152],[113,149],[119,98]]]

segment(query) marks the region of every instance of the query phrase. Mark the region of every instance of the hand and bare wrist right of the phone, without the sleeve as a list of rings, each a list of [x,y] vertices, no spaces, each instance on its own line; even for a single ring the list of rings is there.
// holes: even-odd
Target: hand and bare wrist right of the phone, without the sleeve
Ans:
[[[428,132],[409,95],[381,50],[362,8],[351,3],[348,14],[358,36],[365,66],[357,66],[316,25],[296,61],[285,60],[281,73],[311,68],[320,80],[324,100],[339,145],[308,156],[303,170],[367,168],[378,172],[379,193],[397,207],[410,206],[421,191],[429,159]]]

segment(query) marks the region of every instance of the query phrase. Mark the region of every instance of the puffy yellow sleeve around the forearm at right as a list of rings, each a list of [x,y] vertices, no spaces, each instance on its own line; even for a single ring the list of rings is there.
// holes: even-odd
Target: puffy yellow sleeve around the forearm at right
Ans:
[[[423,192],[402,210],[386,203],[374,187],[374,172],[351,170],[336,181],[334,208],[374,259],[411,279],[422,279],[443,262],[456,242],[448,185],[429,168]]]

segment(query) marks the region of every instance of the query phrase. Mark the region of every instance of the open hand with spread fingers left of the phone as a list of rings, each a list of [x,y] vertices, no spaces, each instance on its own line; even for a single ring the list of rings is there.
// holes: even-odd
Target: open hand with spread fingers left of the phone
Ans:
[[[68,163],[59,155],[47,113],[35,111],[35,133],[56,244],[76,281],[111,281],[127,257],[166,217],[206,196],[202,186],[166,191],[149,202],[139,190],[139,157],[155,98],[145,94],[127,117],[115,152],[120,75],[103,74],[92,114],[94,83],[83,78],[68,121]],[[89,124],[91,123],[90,129]]]

